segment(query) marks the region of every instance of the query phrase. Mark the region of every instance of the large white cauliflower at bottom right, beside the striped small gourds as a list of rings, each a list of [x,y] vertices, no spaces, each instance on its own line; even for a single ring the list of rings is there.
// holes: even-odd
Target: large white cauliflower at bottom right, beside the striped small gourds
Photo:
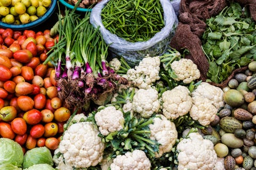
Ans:
[[[213,143],[204,139],[198,132],[190,133],[189,138],[177,145],[179,170],[212,170],[217,163]]]

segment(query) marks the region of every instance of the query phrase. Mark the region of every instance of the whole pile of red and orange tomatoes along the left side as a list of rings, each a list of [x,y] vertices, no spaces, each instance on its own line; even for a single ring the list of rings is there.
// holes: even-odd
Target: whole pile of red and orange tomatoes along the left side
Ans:
[[[18,142],[24,152],[57,149],[71,115],[58,97],[53,65],[43,64],[57,42],[50,30],[0,28],[0,138]]]

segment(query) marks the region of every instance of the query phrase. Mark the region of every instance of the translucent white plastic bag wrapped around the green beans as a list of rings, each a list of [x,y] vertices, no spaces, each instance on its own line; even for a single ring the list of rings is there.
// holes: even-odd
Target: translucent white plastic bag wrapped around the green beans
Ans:
[[[135,65],[147,54],[157,56],[165,52],[178,25],[178,18],[170,0],[160,0],[164,11],[164,28],[151,39],[136,43],[126,41],[104,27],[101,21],[101,11],[108,1],[103,0],[92,8],[90,22],[95,28],[100,26],[103,39],[107,44],[110,44],[109,51],[111,57],[120,58],[122,56],[128,64]]]

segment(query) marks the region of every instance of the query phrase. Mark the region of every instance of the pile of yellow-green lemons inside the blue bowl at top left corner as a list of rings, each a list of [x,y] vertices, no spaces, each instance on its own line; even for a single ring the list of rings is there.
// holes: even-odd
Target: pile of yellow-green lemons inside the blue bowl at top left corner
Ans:
[[[51,0],[0,0],[0,19],[8,24],[26,24],[43,16]]]

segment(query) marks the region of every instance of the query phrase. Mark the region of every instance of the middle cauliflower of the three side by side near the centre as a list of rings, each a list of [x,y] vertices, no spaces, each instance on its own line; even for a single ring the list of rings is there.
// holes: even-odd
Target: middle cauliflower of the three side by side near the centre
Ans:
[[[192,98],[188,88],[181,85],[163,92],[162,101],[163,115],[172,120],[186,115],[192,106]]]

